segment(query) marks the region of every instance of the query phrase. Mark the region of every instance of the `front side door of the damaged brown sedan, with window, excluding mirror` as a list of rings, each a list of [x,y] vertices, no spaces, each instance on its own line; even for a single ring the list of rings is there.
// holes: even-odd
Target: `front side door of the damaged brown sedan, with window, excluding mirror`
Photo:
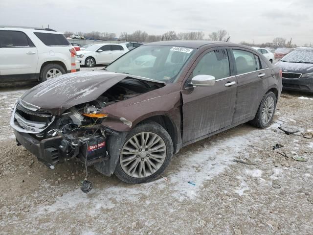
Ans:
[[[191,68],[182,91],[183,143],[231,125],[237,81],[229,62],[226,49],[215,47],[204,51]],[[188,85],[191,78],[199,74],[215,76],[215,85]]]

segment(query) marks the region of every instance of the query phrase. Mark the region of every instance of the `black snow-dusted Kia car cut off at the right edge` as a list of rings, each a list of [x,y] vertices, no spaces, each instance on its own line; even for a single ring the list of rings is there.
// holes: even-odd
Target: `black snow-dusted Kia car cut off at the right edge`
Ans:
[[[313,93],[313,48],[291,51],[277,66],[283,71],[284,89]]]

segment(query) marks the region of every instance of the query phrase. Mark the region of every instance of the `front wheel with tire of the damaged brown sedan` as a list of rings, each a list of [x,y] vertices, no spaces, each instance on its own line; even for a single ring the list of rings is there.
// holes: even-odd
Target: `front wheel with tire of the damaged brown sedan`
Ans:
[[[147,140],[145,141],[144,144],[147,144],[147,145],[145,145],[146,146],[145,149],[142,148],[142,151],[140,151],[141,146],[142,146],[141,140],[140,140],[142,133],[144,133],[144,136],[146,137],[146,140]],[[137,151],[137,152],[134,155],[122,154],[123,152],[128,151],[128,150],[125,150],[124,147],[134,146],[134,145],[131,145],[130,143],[130,140],[134,140],[132,139],[134,138],[134,136],[135,137],[140,136],[138,138],[138,141],[140,142],[140,143],[138,142],[139,146],[137,145],[138,150],[134,149],[134,151]],[[153,139],[155,136],[156,136],[156,139]],[[152,144],[149,147],[148,145],[151,142],[158,140],[157,137],[160,137],[160,141],[157,141],[156,144]],[[157,179],[164,172],[167,166],[170,164],[172,157],[173,157],[172,139],[170,135],[167,133],[167,131],[156,122],[146,122],[146,123],[142,123],[142,124],[135,126],[134,129],[132,129],[127,134],[122,146],[123,147],[119,149],[119,154],[118,154],[119,157],[118,157],[118,162],[117,162],[114,174],[117,176],[117,178],[129,184],[141,184],[141,183],[151,182]],[[162,147],[159,147],[159,146],[162,146]],[[159,147],[158,151],[153,151],[157,147]],[[149,151],[150,149],[152,150],[152,152]],[[165,150],[159,151],[163,149]],[[148,156],[149,153],[151,154],[151,156]],[[161,157],[161,155],[162,155],[162,159],[158,157],[155,158],[155,156]],[[128,160],[131,158],[134,158],[134,161]],[[126,164],[128,165],[125,166]],[[130,170],[130,172],[134,170],[133,175],[131,175],[131,173],[127,173],[127,170],[126,170],[126,169],[130,169],[132,165],[135,165],[135,167],[132,170]],[[153,165],[156,166],[156,168]],[[145,171],[143,170],[143,168],[145,169]],[[152,169],[152,171],[150,169]],[[144,175],[144,173],[146,174],[146,176]]]

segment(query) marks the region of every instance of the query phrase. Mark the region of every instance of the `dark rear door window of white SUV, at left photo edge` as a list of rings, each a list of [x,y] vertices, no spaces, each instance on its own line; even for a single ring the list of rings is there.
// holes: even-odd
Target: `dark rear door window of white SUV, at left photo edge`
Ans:
[[[23,32],[1,30],[0,47],[34,47],[34,44]]]

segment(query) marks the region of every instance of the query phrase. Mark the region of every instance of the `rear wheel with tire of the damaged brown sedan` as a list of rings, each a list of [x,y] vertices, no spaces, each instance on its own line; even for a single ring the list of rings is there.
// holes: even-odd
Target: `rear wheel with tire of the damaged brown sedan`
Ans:
[[[267,104],[266,104],[267,102]],[[273,102],[273,103],[272,103]],[[261,104],[259,106],[258,112],[255,115],[255,118],[253,120],[251,120],[249,123],[253,126],[256,126],[258,128],[266,128],[270,125],[270,123],[272,122],[273,118],[274,118],[274,114],[275,114],[275,110],[276,110],[276,95],[272,92],[268,92],[267,94],[265,94],[263,96],[263,99],[261,101]],[[266,108],[266,106],[272,106],[272,108]],[[263,110],[263,108],[265,110]],[[265,113],[265,115],[263,116],[263,113]],[[271,115],[270,118],[268,117],[268,114]],[[263,117],[267,117],[268,120],[264,120]]]

